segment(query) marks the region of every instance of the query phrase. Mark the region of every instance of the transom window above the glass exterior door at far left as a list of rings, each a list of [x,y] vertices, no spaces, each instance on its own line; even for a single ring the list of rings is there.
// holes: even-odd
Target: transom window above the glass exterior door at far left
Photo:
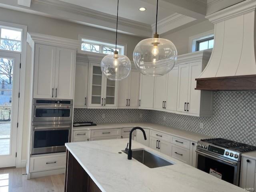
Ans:
[[[0,26],[0,49],[21,52],[22,30]]]

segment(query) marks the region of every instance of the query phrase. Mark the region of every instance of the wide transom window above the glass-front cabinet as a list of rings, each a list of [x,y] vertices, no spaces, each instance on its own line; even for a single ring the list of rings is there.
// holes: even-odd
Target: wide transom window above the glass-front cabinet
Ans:
[[[117,50],[118,54],[124,55],[124,46],[109,44],[105,42],[98,42],[94,40],[82,39],[82,51],[90,51],[94,53],[103,53],[107,55],[114,54],[114,51]]]

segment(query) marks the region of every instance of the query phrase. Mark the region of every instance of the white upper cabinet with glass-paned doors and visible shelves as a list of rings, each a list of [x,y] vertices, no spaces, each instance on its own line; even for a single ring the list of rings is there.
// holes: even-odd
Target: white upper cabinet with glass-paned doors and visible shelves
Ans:
[[[118,81],[107,79],[99,63],[90,62],[88,107],[116,108]]]

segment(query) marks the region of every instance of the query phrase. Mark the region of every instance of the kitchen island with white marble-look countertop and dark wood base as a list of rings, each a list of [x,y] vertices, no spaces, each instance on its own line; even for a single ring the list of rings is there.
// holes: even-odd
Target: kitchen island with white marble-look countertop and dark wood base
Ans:
[[[244,189],[132,141],[173,165],[149,168],[122,152],[128,139],[66,143],[65,192],[242,192]]]

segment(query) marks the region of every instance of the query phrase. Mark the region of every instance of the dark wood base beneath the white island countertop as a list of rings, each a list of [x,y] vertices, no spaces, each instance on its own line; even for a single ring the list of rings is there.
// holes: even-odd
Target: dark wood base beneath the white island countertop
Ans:
[[[67,150],[65,192],[101,192],[76,158]]]

